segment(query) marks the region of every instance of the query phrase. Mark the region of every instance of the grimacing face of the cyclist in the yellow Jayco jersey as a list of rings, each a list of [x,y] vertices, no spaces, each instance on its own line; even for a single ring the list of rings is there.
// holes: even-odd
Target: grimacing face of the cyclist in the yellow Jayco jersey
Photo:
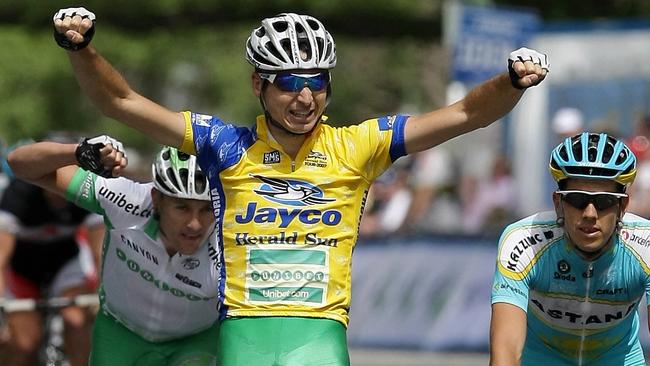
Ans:
[[[309,74],[309,72],[307,72]],[[267,82],[268,86],[262,91],[262,80],[255,74],[255,93],[262,94],[266,110],[275,121],[287,130],[304,134],[310,132],[318,123],[320,116],[325,111],[327,103],[327,89],[313,91],[304,87],[296,92],[280,90],[275,84]],[[255,86],[257,85],[257,86]]]

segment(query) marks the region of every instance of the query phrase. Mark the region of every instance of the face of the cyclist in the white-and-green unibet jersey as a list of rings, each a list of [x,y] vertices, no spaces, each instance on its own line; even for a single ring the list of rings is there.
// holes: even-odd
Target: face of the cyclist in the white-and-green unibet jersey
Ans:
[[[160,232],[170,255],[196,252],[214,227],[209,201],[170,197],[154,192],[154,204],[160,215]]]

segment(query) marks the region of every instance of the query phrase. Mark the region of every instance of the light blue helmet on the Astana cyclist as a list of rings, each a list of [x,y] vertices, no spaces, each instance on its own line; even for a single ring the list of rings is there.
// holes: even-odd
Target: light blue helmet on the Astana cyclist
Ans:
[[[583,132],[553,149],[549,170],[558,183],[567,178],[605,179],[627,187],[636,176],[636,157],[606,133]]]

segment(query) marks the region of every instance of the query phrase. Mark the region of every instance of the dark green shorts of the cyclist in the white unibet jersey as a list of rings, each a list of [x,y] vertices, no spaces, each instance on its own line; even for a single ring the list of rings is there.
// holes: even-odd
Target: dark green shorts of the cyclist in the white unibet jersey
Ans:
[[[191,336],[150,342],[99,311],[93,327],[91,366],[215,366],[219,325]]]

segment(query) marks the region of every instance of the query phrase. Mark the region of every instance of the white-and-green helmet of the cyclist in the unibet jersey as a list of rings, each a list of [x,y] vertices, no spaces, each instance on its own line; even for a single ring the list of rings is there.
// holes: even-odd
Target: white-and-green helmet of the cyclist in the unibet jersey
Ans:
[[[156,189],[167,196],[210,200],[208,179],[196,163],[196,156],[165,146],[151,164],[151,171]]]

